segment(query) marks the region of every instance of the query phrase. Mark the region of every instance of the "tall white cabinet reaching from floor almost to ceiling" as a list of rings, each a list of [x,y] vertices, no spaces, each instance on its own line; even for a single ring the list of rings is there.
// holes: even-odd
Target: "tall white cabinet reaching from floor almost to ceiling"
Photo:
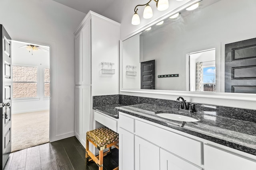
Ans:
[[[120,23],[89,11],[74,35],[75,136],[85,147],[95,128],[92,96],[118,94]],[[102,74],[101,62],[115,63],[116,74]]]

